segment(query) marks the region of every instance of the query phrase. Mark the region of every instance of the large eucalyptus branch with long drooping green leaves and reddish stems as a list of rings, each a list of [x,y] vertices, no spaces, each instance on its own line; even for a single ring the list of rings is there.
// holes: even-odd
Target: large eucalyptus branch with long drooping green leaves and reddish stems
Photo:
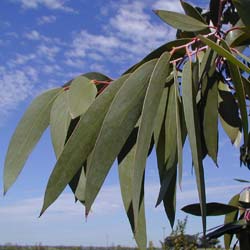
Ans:
[[[69,185],[87,216],[117,159],[124,208],[138,246],[145,249],[147,157],[155,147],[160,177],[156,204],[163,203],[173,226],[188,138],[206,232],[203,159],[211,157],[217,165],[219,122],[233,144],[243,143],[241,161],[249,167],[250,59],[245,49],[250,2],[211,0],[207,10],[184,1],[181,5],[184,14],[154,11],[176,29],[176,40],[156,48],[119,78],[85,73],[31,103],[9,144],[5,193],[49,126],[57,162],[41,215]]]

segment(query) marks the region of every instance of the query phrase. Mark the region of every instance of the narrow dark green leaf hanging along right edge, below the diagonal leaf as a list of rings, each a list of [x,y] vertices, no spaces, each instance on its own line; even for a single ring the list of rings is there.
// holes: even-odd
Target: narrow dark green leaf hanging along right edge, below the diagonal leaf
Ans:
[[[226,50],[230,50],[228,45],[226,43],[222,43],[223,47],[226,48]],[[232,78],[232,82],[235,87],[235,93],[236,98],[238,100],[238,106],[240,109],[241,114],[241,121],[242,121],[242,127],[243,127],[243,134],[244,134],[244,144],[247,146],[248,141],[248,114],[247,114],[247,107],[246,107],[246,94],[244,85],[242,82],[242,77],[240,74],[240,70],[237,65],[234,65],[231,62],[228,62],[228,67],[230,71],[230,76]]]

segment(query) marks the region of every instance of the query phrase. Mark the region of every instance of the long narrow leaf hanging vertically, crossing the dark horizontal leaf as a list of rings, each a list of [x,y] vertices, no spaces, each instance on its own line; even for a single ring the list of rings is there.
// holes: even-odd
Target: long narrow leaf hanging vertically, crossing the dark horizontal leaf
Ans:
[[[184,107],[184,116],[187,126],[188,138],[192,152],[192,159],[196,175],[196,184],[198,187],[199,200],[201,204],[201,214],[203,223],[203,232],[206,232],[206,193],[204,170],[202,164],[202,149],[200,141],[199,118],[196,107],[196,98],[193,92],[192,84],[192,64],[188,61],[183,68],[182,76],[182,98]]]

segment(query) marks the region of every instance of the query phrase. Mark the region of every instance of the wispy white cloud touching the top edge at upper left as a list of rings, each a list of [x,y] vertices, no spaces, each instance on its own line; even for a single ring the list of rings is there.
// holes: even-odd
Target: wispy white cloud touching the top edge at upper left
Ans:
[[[51,10],[62,10],[66,12],[75,12],[74,9],[65,5],[63,0],[17,0],[25,9],[37,9],[46,7]]]

